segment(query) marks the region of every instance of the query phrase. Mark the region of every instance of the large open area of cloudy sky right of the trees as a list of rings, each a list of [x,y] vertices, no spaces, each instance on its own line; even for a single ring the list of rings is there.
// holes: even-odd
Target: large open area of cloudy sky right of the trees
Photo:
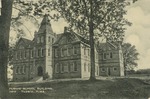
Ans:
[[[125,17],[132,22],[125,32],[125,42],[135,45],[140,53],[137,69],[150,68],[150,0],[139,0],[128,7]]]

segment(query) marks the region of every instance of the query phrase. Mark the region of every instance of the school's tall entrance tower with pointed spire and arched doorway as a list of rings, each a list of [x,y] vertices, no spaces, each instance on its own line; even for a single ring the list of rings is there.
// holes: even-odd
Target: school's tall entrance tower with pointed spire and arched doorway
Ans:
[[[48,73],[52,77],[52,44],[56,34],[53,33],[48,15],[44,15],[38,32],[35,32],[34,50],[36,75],[42,76]]]

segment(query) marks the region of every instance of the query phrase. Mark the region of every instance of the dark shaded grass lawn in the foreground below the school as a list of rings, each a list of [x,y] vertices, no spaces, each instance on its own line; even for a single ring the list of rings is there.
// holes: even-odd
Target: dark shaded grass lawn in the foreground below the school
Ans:
[[[15,93],[10,99],[148,99],[150,84],[140,79],[61,81],[13,87],[50,87],[45,93]]]

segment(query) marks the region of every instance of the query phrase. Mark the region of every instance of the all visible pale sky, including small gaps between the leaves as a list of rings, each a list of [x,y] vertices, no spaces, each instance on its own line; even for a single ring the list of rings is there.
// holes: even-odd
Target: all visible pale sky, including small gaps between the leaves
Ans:
[[[128,27],[125,32],[125,42],[129,42],[136,46],[136,49],[140,53],[138,67],[136,69],[150,68],[150,0],[138,0],[136,3],[127,7],[127,15],[125,16],[132,26]],[[16,11],[13,11],[16,13]],[[55,33],[62,33],[64,26],[67,23],[61,19],[59,22],[51,21],[53,31]],[[34,24],[28,21],[24,22],[24,25],[28,28],[26,38],[32,39],[34,31],[37,28]],[[25,27],[23,27],[25,28]],[[11,32],[11,36],[15,36],[15,32]],[[32,35],[32,36],[31,36]]]

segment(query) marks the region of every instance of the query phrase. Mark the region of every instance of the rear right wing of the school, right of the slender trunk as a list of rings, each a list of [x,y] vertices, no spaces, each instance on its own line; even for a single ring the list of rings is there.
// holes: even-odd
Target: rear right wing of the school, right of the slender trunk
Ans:
[[[124,76],[123,53],[119,43],[101,43],[99,47],[101,76]]]

